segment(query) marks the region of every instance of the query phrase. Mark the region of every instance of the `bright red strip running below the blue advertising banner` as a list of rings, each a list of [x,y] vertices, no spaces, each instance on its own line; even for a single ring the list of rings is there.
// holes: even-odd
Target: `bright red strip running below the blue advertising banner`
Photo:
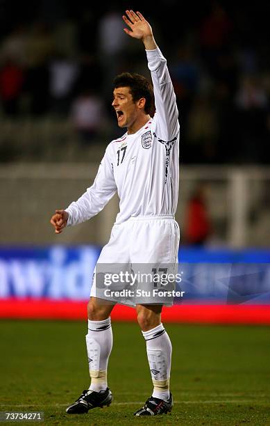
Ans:
[[[87,319],[85,301],[0,299],[0,317],[17,319]],[[135,321],[136,311],[115,306],[115,321]],[[270,305],[175,305],[163,308],[162,321],[202,324],[270,325]]]

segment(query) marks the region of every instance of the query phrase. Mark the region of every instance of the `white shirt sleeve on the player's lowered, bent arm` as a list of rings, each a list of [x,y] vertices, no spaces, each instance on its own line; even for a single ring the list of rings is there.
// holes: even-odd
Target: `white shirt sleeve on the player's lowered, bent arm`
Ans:
[[[95,216],[109,202],[117,191],[113,175],[112,162],[110,161],[109,146],[99,166],[99,171],[92,187],[87,188],[77,201],[65,209],[69,214],[67,226],[77,225]]]

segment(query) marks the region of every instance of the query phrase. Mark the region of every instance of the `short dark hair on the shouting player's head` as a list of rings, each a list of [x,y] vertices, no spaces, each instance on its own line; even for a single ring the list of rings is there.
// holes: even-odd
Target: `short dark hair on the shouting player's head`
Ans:
[[[115,77],[113,86],[114,88],[129,87],[134,102],[144,97],[144,111],[153,117],[155,113],[153,86],[143,75],[135,72],[122,72]]]

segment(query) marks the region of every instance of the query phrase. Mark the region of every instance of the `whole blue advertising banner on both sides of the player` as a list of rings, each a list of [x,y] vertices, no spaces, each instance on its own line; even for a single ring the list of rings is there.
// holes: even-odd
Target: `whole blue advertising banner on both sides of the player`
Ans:
[[[0,299],[84,301],[98,246],[1,247]],[[180,248],[178,303],[269,303],[270,251]]]

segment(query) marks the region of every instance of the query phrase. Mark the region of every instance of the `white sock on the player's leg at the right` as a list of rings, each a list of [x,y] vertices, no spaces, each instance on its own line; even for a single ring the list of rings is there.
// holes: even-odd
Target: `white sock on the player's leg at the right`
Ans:
[[[160,400],[168,400],[171,340],[162,324],[149,331],[142,331],[142,335],[146,340],[147,358],[154,386],[152,396]]]

